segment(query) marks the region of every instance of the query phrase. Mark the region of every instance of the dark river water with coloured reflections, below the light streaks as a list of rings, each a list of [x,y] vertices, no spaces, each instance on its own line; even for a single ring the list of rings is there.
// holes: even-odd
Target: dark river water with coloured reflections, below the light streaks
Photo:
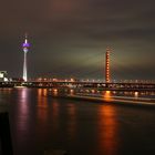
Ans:
[[[14,155],[154,155],[155,108],[49,96],[46,89],[0,89]],[[148,95],[148,94],[147,94]]]

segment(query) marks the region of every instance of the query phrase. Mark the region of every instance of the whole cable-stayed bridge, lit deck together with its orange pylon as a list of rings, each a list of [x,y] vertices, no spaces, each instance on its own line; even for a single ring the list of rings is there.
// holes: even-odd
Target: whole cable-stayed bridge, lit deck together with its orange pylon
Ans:
[[[102,81],[89,81],[89,80],[75,80],[75,79],[70,79],[70,80],[59,80],[59,79],[44,79],[44,78],[39,78],[35,80],[28,80],[25,81],[1,81],[0,82],[0,87],[17,87],[17,86],[27,86],[27,87],[56,87],[56,89],[95,89],[95,90],[146,90],[146,91],[155,91],[155,81],[122,81],[122,82],[115,82],[112,81],[112,75],[111,75],[111,61],[110,61],[110,54],[111,54],[111,49],[106,49],[105,53],[105,60],[104,60],[104,65],[105,68],[102,68],[102,74],[103,79]],[[97,55],[101,58],[101,53]],[[83,60],[85,63],[87,63],[90,60],[92,60],[93,56],[91,55],[89,60]],[[102,61],[103,62],[103,61]],[[101,63],[101,62],[100,62]],[[65,70],[60,69],[59,72],[65,71],[71,74],[78,74],[82,72],[82,69],[74,69],[74,71],[68,71],[68,68],[65,66]],[[76,72],[76,73],[75,73]],[[99,72],[99,71],[97,71]],[[66,74],[65,73],[65,74]],[[86,72],[86,75],[90,76],[90,74],[95,73],[95,71]],[[96,75],[96,73],[95,73]]]

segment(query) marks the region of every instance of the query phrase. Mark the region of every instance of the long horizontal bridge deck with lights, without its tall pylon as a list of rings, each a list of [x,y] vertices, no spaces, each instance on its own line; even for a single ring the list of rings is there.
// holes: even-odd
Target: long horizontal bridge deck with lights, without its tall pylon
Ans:
[[[95,90],[134,90],[155,91],[155,82],[97,82],[97,81],[28,81],[0,82],[0,87],[49,87],[49,89],[95,89]]]

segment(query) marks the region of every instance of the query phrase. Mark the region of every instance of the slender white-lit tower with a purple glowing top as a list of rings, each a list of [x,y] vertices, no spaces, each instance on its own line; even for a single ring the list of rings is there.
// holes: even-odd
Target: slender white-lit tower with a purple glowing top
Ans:
[[[23,58],[23,80],[27,82],[28,81],[28,71],[27,71],[27,53],[29,51],[30,44],[28,42],[28,35],[24,35],[24,43],[22,43],[22,50],[24,52],[24,58]]]

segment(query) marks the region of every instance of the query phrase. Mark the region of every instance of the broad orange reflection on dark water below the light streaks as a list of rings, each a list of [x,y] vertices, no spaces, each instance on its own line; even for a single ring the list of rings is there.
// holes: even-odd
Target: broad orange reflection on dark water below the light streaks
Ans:
[[[116,155],[118,136],[115,107],[111,105],[101,106],[99,122],[99,149],[105,155]]]

